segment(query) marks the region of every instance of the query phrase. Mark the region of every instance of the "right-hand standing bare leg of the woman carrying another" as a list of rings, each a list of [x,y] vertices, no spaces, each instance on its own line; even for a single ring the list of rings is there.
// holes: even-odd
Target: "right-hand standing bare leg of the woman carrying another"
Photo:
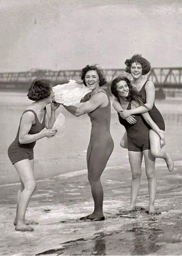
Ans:
[[[156,175],[155,175],[155,158],[151,154],[151,150],[144,150],[145,171],[148,179],[149,188],[149,214],[155,214],[155,196],[157,189]]]

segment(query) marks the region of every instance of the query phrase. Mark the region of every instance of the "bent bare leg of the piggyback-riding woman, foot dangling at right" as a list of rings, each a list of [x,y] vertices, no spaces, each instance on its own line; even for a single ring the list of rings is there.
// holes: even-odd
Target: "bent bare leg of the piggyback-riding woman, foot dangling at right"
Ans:
[[[160,147],[160,137],[152,129],[149,132],[151,153],[155,158],[163,158],[166,161],[167,168],[170,172],[174,170],[174,162],[172,161],[169,154]]]

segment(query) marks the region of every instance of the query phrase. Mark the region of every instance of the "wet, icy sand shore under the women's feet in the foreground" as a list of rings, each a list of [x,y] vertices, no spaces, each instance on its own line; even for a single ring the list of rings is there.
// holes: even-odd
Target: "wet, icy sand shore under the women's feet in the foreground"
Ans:
[[[156,166],[156,208],[148,215],[148,186],[143,166],[138,211],[117,215],[130,199],[130,168],[107,168],[102,176],[105,221],[80,221],[93,210],[86,170],[69,172],[38,182],[27,210],[27,219],[39,224],[31,233],[15,231],[15,200],[18,186],[3,187],[0,208],[0,255],[181,255],[181,165],[169,173],[163,162]],[[123,180],[122,177],[125,177]],[[1,188],[2,189],[2,188]],[[123,214],[122,214],[123,215]]]

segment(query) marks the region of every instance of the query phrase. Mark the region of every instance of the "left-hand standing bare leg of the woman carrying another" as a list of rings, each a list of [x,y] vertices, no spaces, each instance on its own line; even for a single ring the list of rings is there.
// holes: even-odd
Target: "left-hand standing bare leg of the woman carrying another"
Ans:
[[[124,209],[120,209],[120,212],[129,212],[135,209],[137,195],[140,188],[140,177],[142,173],[141,162],[142,162],[143,153],[128,151],[128,154],[129,154],[129,162],[130,162],[131,173],[132,173],[130,205]]]

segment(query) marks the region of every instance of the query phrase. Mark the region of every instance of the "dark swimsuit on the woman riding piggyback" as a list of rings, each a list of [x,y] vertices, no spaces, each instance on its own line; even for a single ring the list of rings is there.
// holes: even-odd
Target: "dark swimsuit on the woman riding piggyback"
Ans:
[[[146,80],[145,84],[142,86],[141,90],[139,91],[140,95],[144,99],[146,103],[146,92],[145,92],[145,85],[149,80]],[[156,108],[155,103],[153,103],[153,107],[151,110],[149,110],[149,114],[152,118],[152,120],[156,123],[156,125],[163,131],[165,131],[165,123],[164,119],[159,112],[159,110]]]

